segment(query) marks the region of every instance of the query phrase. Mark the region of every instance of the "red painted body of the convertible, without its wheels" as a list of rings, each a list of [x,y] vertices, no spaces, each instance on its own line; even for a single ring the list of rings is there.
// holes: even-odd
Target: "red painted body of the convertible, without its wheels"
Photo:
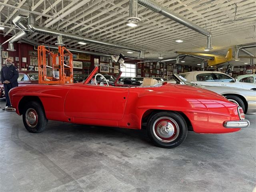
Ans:
[[[141,129],[142,123],[155,112],[176,112],[196,133],[240,130],[224,127],[225,122],[241,121],[236,104],[214,92],[186,85],[38,84],[13,88],[9,96],[17,114],[22,114],[26,102],[36,100],[42,104],[48,120]]]

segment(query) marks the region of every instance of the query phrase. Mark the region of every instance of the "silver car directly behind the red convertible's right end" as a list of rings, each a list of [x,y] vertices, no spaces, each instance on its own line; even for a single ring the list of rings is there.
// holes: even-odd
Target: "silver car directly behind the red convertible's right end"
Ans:
[[[240,88],[222,87],[222,86],[206,86],[194,84],[181,75],[174,74],[170,83],[178,83],[190,85],[197,88],[207,89],[224,96],[229,101],[242,107],[245,114],[256,114],[256,92],[253,90],[245,90]],[[174,81],[175,80],[175,81]]]

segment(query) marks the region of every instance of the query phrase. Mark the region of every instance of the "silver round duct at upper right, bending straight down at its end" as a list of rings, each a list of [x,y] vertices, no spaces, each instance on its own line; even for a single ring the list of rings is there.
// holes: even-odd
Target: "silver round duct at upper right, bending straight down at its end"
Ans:
[[[170,19],[172,19],[172,20],[174,20],[174,21],[200,33],[200,34],[207,36],[206,49],[212,49],[212,34],[208,30],[200,27],[199,25],[191,22],[190,20],[187,20],[186,18],[179,16],[178,14],[176,14],[174,12],[171,12],[164,6],[160,5],[159,3],[154,2],[152,0],[138,0],[138,4],[148,8],[154,12],[162,14],[163,16],[170,18]]]

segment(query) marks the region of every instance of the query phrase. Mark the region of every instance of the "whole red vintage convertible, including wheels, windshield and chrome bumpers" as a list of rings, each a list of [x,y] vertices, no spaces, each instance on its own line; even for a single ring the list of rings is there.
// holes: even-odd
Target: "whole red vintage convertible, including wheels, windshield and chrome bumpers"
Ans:
[[[179,84],[130,87],[108,82],[96,67],[83,83],[26,85],[10,90],[12,106],[29,132],[48,120],[141,129],[164,148],[180,145],[188,130],[229,133],[249,126],[242,108],[214,92]],[[97,78],[100,76],[100,78]]]

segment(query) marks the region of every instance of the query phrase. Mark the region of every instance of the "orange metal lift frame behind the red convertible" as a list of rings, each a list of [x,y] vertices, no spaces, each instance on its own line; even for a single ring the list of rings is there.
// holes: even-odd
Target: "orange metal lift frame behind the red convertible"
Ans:
[[[46,63],[48,56],[50,56],[49,65]],[[68,75],[65,72],[68,72]],[[73,82],[73,54],[62,46],[58,46],[56,54],[47,50],[43,45],[38,46],[38,83],[65,84]]]

